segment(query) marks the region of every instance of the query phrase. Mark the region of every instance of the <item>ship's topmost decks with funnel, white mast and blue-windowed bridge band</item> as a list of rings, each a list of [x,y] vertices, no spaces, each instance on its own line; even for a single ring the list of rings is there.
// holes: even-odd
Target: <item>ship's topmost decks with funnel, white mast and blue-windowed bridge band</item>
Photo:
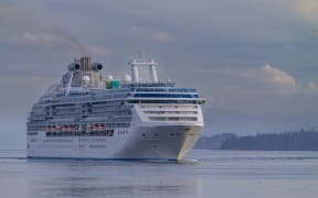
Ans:
[[[131,66],[130,76],[132,78],[126,75],[124,79],[114,79],[113,76],[105,79],[102,75],[103,64],[93,63],[91,57],[75,58],[67,66],[67,72],[63,75],[61,82],[50,87],[40,101],[115,99],[125,98],[125,96],[129,98],[200,99],[194,88],[176,88],[174,82],[159,80],[156,70],[158,63],[153,59],[146,61],[139,54],[137,59],[132,59],[128,64]],[[140,76],[139,67],[149,67],[148,78]],[[141,77],[148,81],[141,80]]]

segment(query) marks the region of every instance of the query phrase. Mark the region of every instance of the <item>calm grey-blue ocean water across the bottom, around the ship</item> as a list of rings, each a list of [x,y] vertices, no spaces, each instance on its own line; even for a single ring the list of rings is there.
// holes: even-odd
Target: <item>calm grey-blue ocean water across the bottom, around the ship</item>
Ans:
[[[30,161],[0,151],[0,198],[316,198],[318,152],[193,151],[181,163]]]

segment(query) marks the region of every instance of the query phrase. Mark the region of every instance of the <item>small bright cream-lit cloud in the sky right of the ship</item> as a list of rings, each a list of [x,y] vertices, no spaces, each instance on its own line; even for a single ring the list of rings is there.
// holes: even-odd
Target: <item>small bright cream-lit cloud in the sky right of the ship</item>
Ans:
[[[262,70],[264,72],[265,80],[273,86],[295,88],[297,85],[293,76],[284,70],[271,66],[269,64],[265,64],[262,67]]]

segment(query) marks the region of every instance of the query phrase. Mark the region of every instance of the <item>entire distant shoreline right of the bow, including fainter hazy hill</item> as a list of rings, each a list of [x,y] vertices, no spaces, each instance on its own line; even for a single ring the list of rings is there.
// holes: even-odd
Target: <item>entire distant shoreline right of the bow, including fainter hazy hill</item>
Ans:
[[[232,151],[318,151],[318,132],[304,131],[289,133],[265,133],[239,136],[223,133],[202,136],[195,144],[197,150]]]

